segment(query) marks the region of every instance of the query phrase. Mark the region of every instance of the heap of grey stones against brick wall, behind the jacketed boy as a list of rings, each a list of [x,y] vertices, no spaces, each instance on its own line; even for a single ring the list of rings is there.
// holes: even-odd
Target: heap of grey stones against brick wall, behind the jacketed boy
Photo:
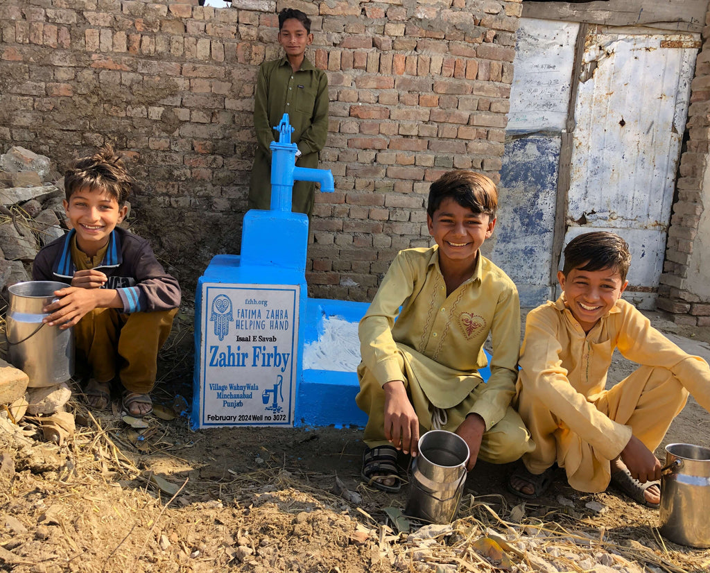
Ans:
[[[65,233],[64,178],[22,147],[0,155],[0,291],[31,280],[37,251]]]

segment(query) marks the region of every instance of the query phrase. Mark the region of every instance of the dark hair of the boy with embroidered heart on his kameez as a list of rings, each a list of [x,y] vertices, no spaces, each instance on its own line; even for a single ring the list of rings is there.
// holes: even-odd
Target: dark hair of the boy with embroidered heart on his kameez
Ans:
[[[476,214],[486,214],[491,219],[496,217],[498,190],[486,175],[462,169],[444,173],[429,187],[427,214],[434,217],[439,205],[447,197]]]

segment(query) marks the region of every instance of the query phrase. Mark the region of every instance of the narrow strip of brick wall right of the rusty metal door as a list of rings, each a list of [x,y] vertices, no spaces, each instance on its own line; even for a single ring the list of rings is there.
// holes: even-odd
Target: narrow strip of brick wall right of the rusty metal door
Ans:
[[[702,36],[657,299],[657,307],[674,322],[691,326],[710,326],[710,285],[702,261],[703,244],[710,238],[704,209],[710,194],[710,12]]]

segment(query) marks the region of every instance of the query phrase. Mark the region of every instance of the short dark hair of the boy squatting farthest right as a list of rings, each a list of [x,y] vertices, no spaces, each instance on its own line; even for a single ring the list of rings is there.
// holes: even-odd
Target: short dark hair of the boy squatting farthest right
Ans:
[[[569,241],[564,248],[562,274],[567,276],[573,268],[580,271],[603,271],[611,268],[618,271],[621,280],[626,280],[630,264],[631,253],[626,241],[609,231],[594,231]]]

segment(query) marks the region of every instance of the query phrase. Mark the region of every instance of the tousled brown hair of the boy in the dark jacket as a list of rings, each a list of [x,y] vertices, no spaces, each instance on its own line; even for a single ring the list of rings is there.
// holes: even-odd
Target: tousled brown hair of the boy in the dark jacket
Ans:
[[[77,190],[89,187],[91,191],[105,191],[123,207],[133,191],[135,180],[129,175],[123,160],[114,148],[105,145],[94,155],[77,159],[64,174],[64,192],[67,200]]]

